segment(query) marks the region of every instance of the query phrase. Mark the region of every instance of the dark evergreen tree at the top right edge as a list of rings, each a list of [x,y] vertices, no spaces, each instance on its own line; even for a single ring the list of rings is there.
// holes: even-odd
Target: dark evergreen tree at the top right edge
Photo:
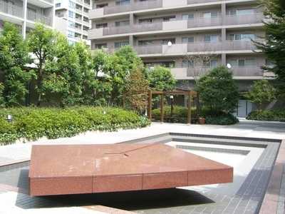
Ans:
[[[285,89],[285,1],[284,0],[261,0],[264,6],[263,30],[266,36],[259,36],[265,42],[254,42],[261,53],[265,54],[274,66],[263,66],[264,71],[276,74],[277,80],[283,84]]]

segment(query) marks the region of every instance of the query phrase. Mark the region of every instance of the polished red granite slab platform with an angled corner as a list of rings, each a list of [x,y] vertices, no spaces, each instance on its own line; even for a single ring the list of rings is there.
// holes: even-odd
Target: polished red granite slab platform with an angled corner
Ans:
[[[29,195],[152,190],[232,183],[233,168],[163,143],[36,145]]]

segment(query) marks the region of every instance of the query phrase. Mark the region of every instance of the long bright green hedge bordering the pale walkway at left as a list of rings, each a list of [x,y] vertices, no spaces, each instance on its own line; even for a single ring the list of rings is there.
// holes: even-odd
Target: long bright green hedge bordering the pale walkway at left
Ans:
[[[12,116],[11,123],[6,120],[8,114]],[[62,138],[86,131],[118,131],[148,125],[148,118],[122,108],[7,108],[0,109],[0,143],[14,143],[19,138],[35,141],[43,136]]]

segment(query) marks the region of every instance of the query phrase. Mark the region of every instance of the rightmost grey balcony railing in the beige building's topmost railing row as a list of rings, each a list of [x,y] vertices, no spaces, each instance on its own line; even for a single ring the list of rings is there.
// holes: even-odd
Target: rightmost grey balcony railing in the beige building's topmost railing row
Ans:
[[[239,16],[226,16],[226,25],[236,24],[262,24],[263,14],[244,14]]]

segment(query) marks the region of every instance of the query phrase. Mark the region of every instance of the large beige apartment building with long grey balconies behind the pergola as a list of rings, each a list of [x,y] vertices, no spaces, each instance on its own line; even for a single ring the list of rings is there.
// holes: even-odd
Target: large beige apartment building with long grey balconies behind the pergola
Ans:
[[[267,78],[260,66],[265,56],[251,39],[259,40],[264,19],[257,0],[95,0],[89,11],[91,49],[108,51],[130,44],[150,67],[172,65],[178,80],[195,85],[185,56],[212,53],[205,70],[230,65],[240,91]],[[268,75],[268,74],[266,74]],[[194,86],[195,87],[195,86]],[[252,103],[241,100],[237,116],[247,116]]]

